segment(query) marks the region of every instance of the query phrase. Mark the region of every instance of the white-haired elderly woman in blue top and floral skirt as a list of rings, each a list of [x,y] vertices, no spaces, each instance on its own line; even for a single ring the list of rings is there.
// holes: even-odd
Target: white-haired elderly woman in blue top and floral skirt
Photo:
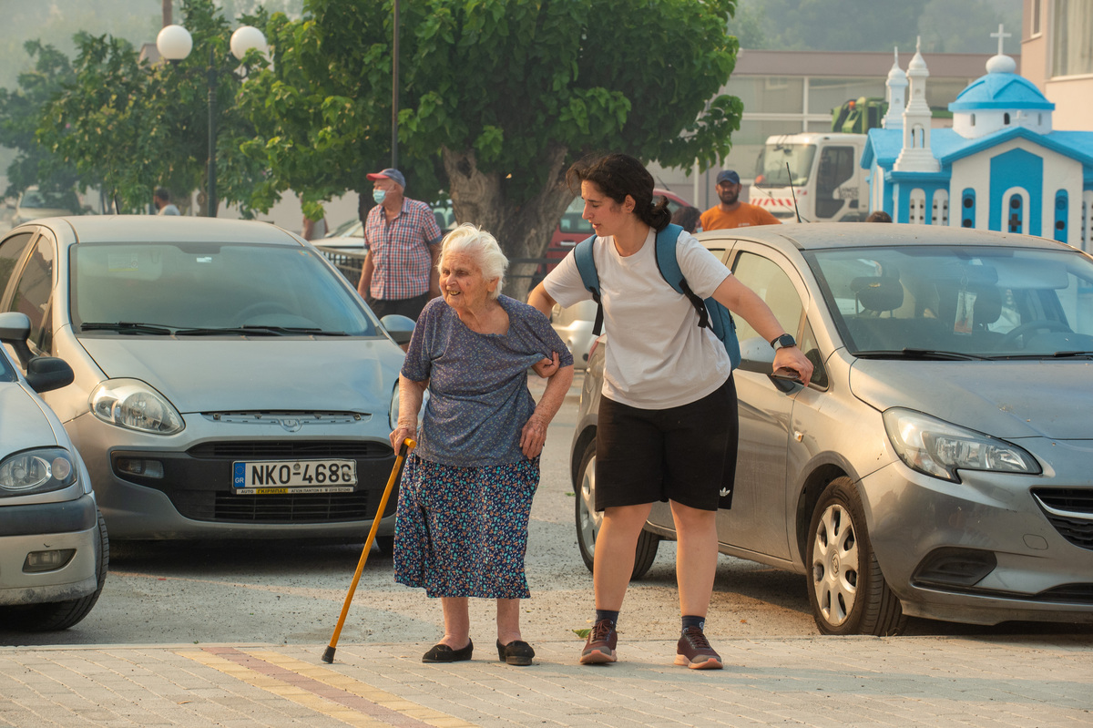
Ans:
[[[399,378],[391,445],[416,436],[418,448],[399,489],[395,579],[424,587],[444,610],[444,637],[423,662],[471,659],[469,597],[497,600],[498,659],[531,665],[534,656],[520,638],[528,515],[573,355],[545,316],[501,295],[507,265],[493,236],[473,225],[444,238],[442,298],[422,310]],[[543,359],[557,368],[536,404],[527,372]]]

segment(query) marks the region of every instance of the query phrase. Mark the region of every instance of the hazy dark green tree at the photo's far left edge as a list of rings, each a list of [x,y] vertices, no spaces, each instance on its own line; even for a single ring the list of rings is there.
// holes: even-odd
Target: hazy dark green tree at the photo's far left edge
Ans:
[[[34,138],[42,111],[73,80],[68,57],[38,40],[24,44],[34,68],[19,75],[19,89],[0,89],[0,145],[16,150],[8,166],[8,189],[15,196],[31,185],[56,191],[71,190],[77,181],[70,165],[48,160],[49,153]],[[48,172],[47,172],[48,169]]]

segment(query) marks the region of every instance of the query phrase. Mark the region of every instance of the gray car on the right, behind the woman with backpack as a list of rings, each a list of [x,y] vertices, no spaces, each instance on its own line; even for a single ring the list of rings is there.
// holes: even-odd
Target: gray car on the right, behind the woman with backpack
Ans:
[[[815,366],[743,363],[721,553],[807,575],[826,634],[898,634],[908,615],[1093,622],[1093,258],[956,227],[769,225],[698,238]],[[589,360],[573,441],[577,536],[600,514],[596,421],[610,342]],[[656,504],[634,576],[673,538]]]

